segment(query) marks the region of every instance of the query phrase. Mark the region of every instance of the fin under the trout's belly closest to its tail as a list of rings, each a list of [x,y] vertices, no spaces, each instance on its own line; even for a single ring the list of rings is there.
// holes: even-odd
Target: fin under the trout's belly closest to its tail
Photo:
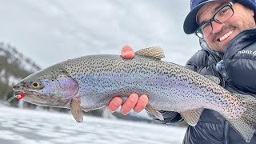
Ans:
[[[180,114],[182,115],[182,118],[190,125],[195,126],[198,123],[198,120],[202,114],[203,109],[197,109],[197,110],[187,110],[182,111]]]

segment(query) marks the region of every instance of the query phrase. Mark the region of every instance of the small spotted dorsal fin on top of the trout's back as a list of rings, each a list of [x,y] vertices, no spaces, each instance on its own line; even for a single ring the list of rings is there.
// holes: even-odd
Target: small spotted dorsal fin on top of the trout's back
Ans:
[[[146,49],[138,50],[135,52],[136,55],[140,55],[142,57],[155,58],[161,60],[161,58],[165,58],[165,54],[163,50],[159,46],[148,47]]]

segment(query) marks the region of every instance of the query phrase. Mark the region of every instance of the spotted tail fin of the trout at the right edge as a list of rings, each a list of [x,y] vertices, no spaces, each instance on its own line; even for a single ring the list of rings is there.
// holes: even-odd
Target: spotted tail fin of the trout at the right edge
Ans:
[[[241,134],[246,142],[250,142],[256,128],[256,98],[249,95],[235,95],[242,99],[242,105],[246,108],[246,111],[240,118],[228,119],[228,121],[234,130],[237,130],[238,133]]]

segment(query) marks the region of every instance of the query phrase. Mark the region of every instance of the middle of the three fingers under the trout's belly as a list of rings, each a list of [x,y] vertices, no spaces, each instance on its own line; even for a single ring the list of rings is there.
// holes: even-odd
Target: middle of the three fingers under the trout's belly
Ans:
[[[129,114],[130,110],[134,109],[134,106],[138,102],[138,94],[130,94],[126,102],[122,105],[120,112],[123,115]]]

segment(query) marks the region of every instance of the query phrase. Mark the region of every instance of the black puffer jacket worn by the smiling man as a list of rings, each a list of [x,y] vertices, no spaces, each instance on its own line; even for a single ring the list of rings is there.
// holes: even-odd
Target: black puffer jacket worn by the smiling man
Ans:
[[[238,34],[228,46],[225,54],[210,50],[206,42],[200,41],[199,50],[186,63],[190,70],[204,75],[214,75],[222,79],[222,86],[233,93],[256,96],[256,28]],[[223,59],[225,68],[216,70],[216,64]],[[223,67],[224,67],[223,66]],[[221,66],[222,67],[222,66]],[[182,118],[176,112],[161,111],[164,121],[180,122]],[[188,126],[184,144],[248,144],[218,112],[203,110],[196,126]],[[250,140],[256,144],[256,134]]]

